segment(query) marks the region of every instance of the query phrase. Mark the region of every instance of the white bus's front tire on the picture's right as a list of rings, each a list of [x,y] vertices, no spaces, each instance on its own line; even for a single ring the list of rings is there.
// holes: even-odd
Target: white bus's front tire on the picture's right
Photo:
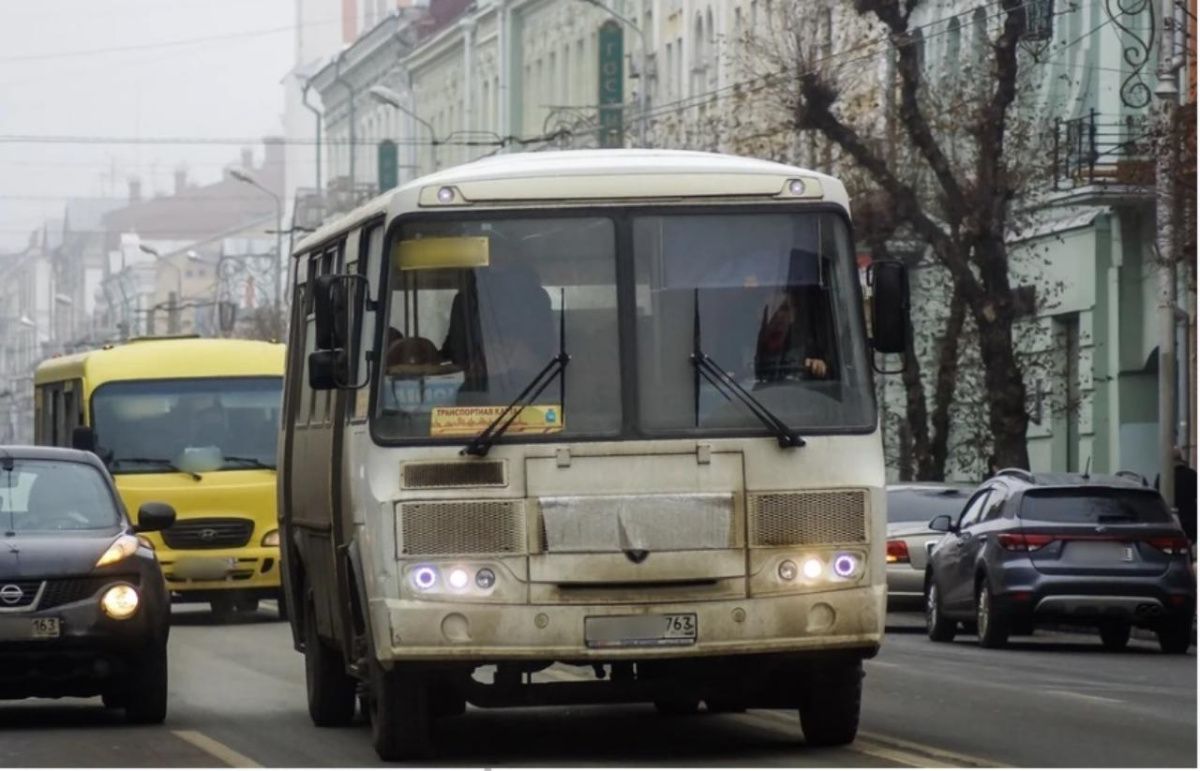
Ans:
[[[804,742],[810,747],[834,747],[854,741],[862,705],[862,662],[829,662],[814,667],[800,697]]]

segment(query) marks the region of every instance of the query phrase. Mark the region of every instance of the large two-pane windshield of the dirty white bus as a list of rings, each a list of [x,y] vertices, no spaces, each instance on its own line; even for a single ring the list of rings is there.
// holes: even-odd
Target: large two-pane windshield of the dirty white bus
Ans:
[[[617,221],[546,217],[408,223],[390,256],[376,435],[469,440],[538,379],[508,441],[761,435],[727,383],[790,430],[874,428],[857,271],[833,214],[636,215],[635,304],[618,310]],[[620,346],[620,313],[636,347]],[[636,357],[636,358],[635,358]],[[622,399],[622,371],[637,395]],[[532,394],[526,394],[530,396]]]

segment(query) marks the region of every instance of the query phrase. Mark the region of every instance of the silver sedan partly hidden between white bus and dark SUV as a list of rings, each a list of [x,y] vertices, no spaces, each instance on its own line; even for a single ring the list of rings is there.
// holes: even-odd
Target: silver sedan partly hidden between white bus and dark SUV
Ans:
[[[958,519],[971,488],[952,484],[888,485],[888,598],[918,600],[925,591],[929,546],[942,533],[929,530],[938,514]]]

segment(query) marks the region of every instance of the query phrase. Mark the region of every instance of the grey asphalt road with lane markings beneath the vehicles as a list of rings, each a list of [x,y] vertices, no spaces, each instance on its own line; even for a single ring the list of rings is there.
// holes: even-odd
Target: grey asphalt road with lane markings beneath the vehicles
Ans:
[[[97,700],[0,703],[0,767],[372,766],[365,723],[317,729],[286,624],[263,610],[216,626],[175,610],[170,713],[124,725]],[[564,679],[577,670],[551,670]],[[443,721],[437,765],[1196,766],[1196,659],[1088,635],[930,642],[894,614],[866,664],[863,729],[839,749],[804,746],[794,713],[660,717],[653,707],[470,710]]]

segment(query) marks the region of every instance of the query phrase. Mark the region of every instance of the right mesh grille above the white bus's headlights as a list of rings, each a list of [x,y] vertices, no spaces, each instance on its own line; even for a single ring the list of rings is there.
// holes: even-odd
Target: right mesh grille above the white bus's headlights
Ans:
[[[748,497],[754,546],[866,540],[865,490],[757,492]]]

